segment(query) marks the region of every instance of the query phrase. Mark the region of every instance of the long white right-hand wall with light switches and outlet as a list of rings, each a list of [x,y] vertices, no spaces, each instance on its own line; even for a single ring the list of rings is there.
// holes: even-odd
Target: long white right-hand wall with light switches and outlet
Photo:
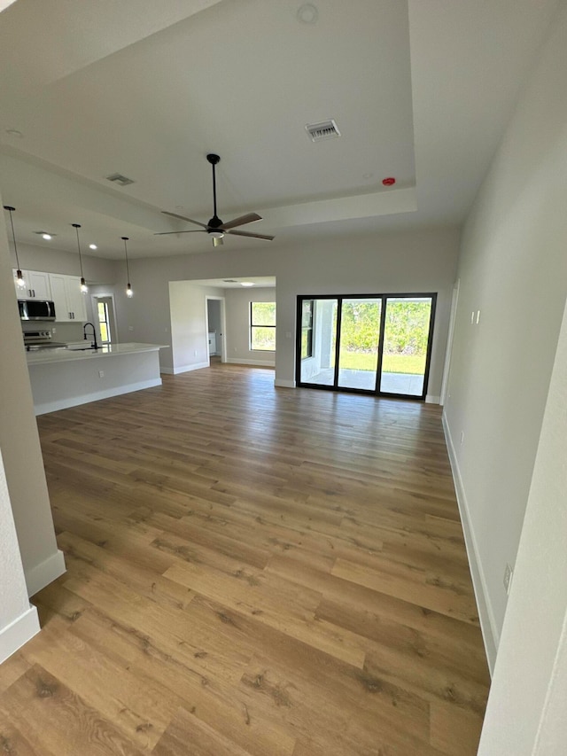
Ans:
[[[470,213],[459,262],[446,425],[491,664],[567,295],[566,50],[563,4]]]

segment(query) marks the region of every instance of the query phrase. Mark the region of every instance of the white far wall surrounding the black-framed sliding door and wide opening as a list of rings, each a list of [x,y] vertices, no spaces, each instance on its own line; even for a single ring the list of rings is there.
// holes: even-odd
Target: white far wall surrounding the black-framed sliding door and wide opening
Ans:
[[[275,276],[276,384],[293,386],[297,294],[438,292],[428,394],[439,397],[458,246],[458,230],[433,229],[135,260],[130,265],[135,296],[127,300],[116,292],[120,341],[168,343],[170,281]],[[126,323],[134,331],[124,331]],[[167,351],[160,361],[173,370]]]

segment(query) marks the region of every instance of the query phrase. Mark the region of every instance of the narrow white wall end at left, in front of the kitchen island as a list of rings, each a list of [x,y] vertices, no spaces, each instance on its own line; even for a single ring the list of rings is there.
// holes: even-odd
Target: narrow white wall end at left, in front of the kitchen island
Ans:
[[[0,217],[0,320],[0,451],[4,457],[19,553],[27,589],[32,595],[64,572],[65,564],[55,541],[43,472],[4,213]],[[8,558],[9,553],[0,552],[3,563]]]

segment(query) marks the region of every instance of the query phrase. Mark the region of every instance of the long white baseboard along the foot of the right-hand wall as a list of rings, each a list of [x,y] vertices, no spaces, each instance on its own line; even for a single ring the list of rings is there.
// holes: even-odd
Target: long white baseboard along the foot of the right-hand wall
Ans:
[[[462,484],[461,471],[459,470],[459,463],[457,462],[454,443],[451,437],[451,431],[447,424],[445,412],[443,412],[442,422],[443,430],[445,432],[445,440],[447,441],[447,451],[449,453],[451,470],[453,471],[454,490],[457,496],[457,503],[459,504],[459,512],[461,514],[462,532],[464,534],[464,542],[467,548],[467,557],[469,558],[470,576],[475,591],[475,598],[477,599],[478,618],[480,620],[482,637],[485,642],[486,659],[488,660],[488,668],[492,675],[494,664],[496,662],[498,643],[500,641],[500,632],[488,598],[485,573],[479,557],[477,539],[470,521],[469,503],[467,502],[467,496]]]

